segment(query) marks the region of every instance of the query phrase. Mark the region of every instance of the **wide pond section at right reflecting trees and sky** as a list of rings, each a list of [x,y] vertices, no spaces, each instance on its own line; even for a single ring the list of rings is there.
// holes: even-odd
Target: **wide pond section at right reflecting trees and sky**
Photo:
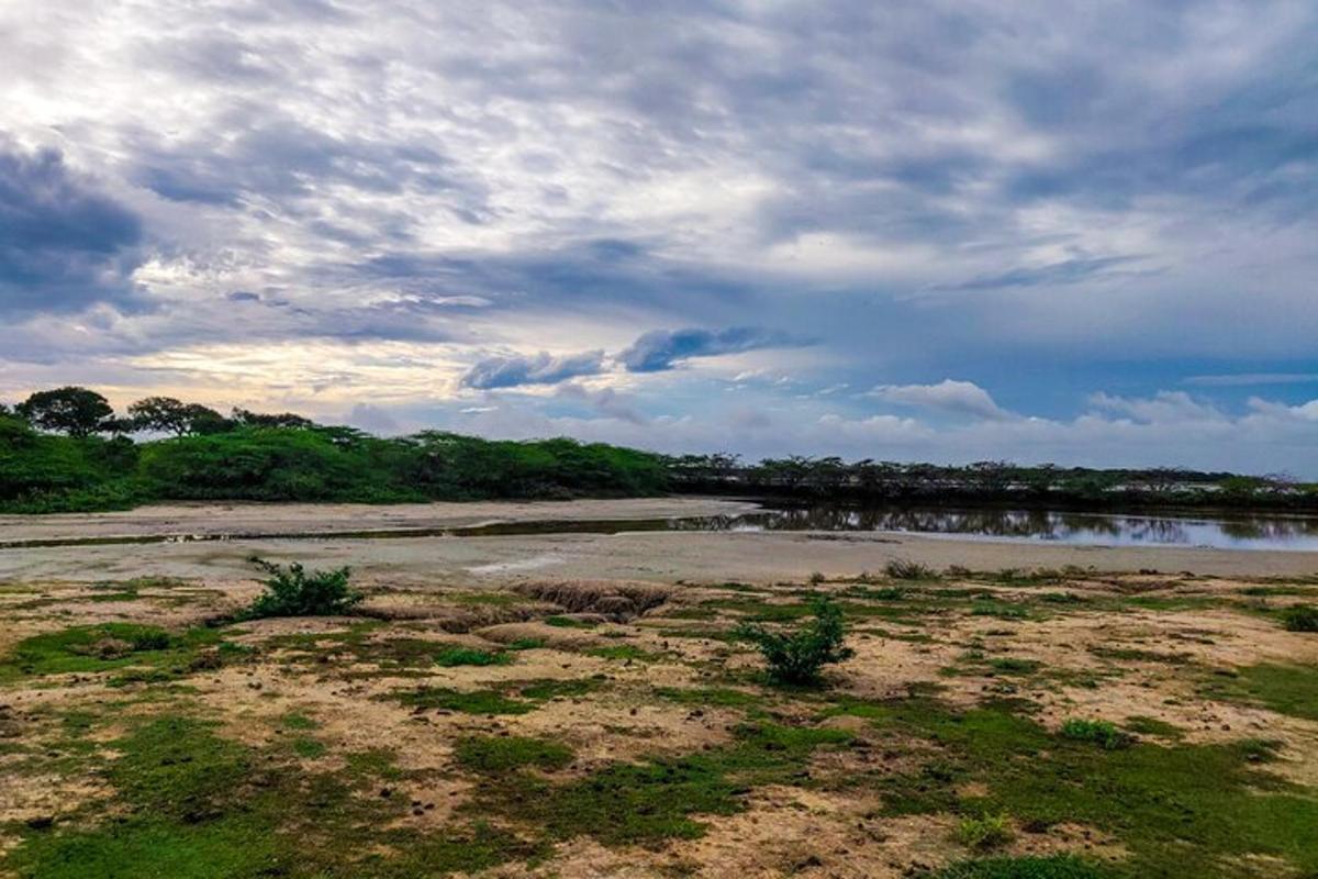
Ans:
[[[812,506],[673,519],[681,531],[902,531],[1093,546],[1318,551],[1318,518]]]

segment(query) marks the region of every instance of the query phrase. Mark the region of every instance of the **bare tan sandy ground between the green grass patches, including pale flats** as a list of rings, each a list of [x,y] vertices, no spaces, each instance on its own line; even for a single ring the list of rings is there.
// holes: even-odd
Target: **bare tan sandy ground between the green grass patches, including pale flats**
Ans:
[[[529,519],[639,519],[738,513],[750,505],[718,499],[583,501],[569,503],[476,503],[407,507],[358,506],[169,506],[130,513],[3,518],[0,542],[111,535],[310,532],[372,528],[436,528]],[[991,543],[895,534],[826,532],[625,532],[546,534],[405,539],[235,539],[202,543],[0,548],[0,656],[22,638],[70,625],[149,622],[183,630],[245,606],[258,590],[246,561],[258,553],[311,567],[345,564],[366,592],[362,606],[377,625],[369,644],[348,647],[330,637],[355,622],[344,618],[266,619],[239,625],[233,642],[256,659],[186,677],[185,695],[142,684],[111,687],[105,675],[65,675],[24,681],[0,692],[0,738],[42,747],[58,742],[59,712],[100,712],[105,700],[137,697],[129,712],[190,706],[217,721],[220,731],[254,749],[274,749],[289,731],[282,718],[315,718],[314,737],[327,752],[308,758],[308,771],[332,771],[344,754],[385,749],[415,776],[399,783],[403,796],[438,804],[402,818],[409,826],[442,832],[461,821],[460,809],[476,779],[455,771],[453,742],[467,735],[535,735],[568,743],[576,754],[563,778],[618,760],[684,755],[726,746],[742,709],[656,698],[655,688],[731,685],[771,700],[775,717],[813,722],[818,706],[793,702],[746,683],[759,667],[753,651],[701,631],[730,626],[741,611],[726,602],[787,604],[813,572],[817,588],[846,594],[861,572],[882,572],[892,559],[945,571],[1035,569],[1077,565],[1057,582],[1021,585],[1010,579],[954,573],[908,589],[991,590],[1006,602],[1036,602],[1029,618],[978,615],[969,605],[931,610],[919,623],[855,617],[854,658],[830,675],[834,696],[858,700],[902,697],[912,687],[937,685],[940,698],[970,708],[986,695],[1011,692],[1037,704],[1036,720],[1057,729],[1070,717],[1153,718],[1180,731],[1186,743],[1267,738],[1281,745],[1273,771],[1318,788],[1318,722],[1280,714],[1248,701],[1205,695],[1214,669],[1257,663],[1318,664],[1318,639],[1288,633],[1246,602],[1288,604],[1300,592],[1244,598],[1242,588],[1272,576],[1314,575],[1318,553],[1230,552],[1174,548],[1094,548]],[[1135,573],[1141,572],[1143,573]],[[1162,573],[1153,573],[1155,571]],[[1181,572],[1197,576],[1182,576]],[[1108,573],[1118,572],[1118,573]],[[1119,573],[1124,572],[1124,573]],[[91,585],[133,577],[124,586]],[[758,584],[755,592],[728,581]],[[672,588],[655,584],[683,584]],[[883,585],[879,573],[867,584]],[[1313,592],[1309,592],[1313,590]],[[1108,602],[1111,611],[1078,605],[1039,605],[1041,593],[1075,593]],[[659,596],[655,606],[621,613],[597,627],[551,625],[556,614],[606,619],[605,600]],[[1264,593],[1265,594],[1265,593]],[[604,596],[601,598],[601,596]],[[1135,596],[1185,600],[1169,610],[1116,602]],[[629,598],[630,600],[630,598]],[[879,604],[882,598],[874,598]],[[1199,601],[1201,604],[1194,604]],[[1226,604],[1226,602],[1236,604]],[[725,602],[718,605],[714,602]],[[616,605],[614,605],[616,606]],[[713,611],[713,608],[722,609]],[[1098,608],[1099,605],[1095,605]],[[1108,606],[1108,605],[1102,605]],[[1271,606],[1271,605],[1269,605]],[[684,613],[685,611],[685,613]],[[704,615],[701,615],[704,614]],[[714,629],[709,629],[714,627]],[[685,634],[683,630],[692,630]],[[314,647],[281,646],[279,638],[312,635]],[[517,640],[539,646],[515,662],[489,667],[406,668],[381,664],[370,646],[422,639],[482,650]],[[625,644],[638,659],[608,658],[601,648]],[[1112,658],[1114,650],[1126,651]],[[302,651],[299,654],[299,651]],[[593,652],[592,652],[593,651]],[[1107,651],[1107,652],[1104,652]],[[1033,660],[1033,677],[995,676],[973,655]],[[1174,655],[1174,656],[1173,656]],[[1173,656],[1169,662],[1168,656]],[[985,660],[986,662],[986,660]],[[208,668],[208,667],[207,667]],[[948,673],[953,669],[954,673]],[[1101,685],[1085,683],[1098,676]],[[419,710],[390,693],[426,684],[476,691],[515,688],[518,681],[593,681],[584,695],[555,696],[518,716]],[[1019,692],[1017,692],[1019,691]],[[177,708],[177,706],[175,706]],[[858,717],[838,717],[865,742],[862,749],[821,751],[809,772],[824,781],[858,774],[904,771],[884,739]],[[98,741],[121,734],[115,721]],[[51,751],[54,752],[54,751]],[[0,759],[0,828],[57,817],[74,820],[80,804],[109,801],[113,791],[95,772],[17,767],[21,755]],[[26,759],[26,758],[22,758]],[[42,768],[38,760],[38,768]],[[956,841],[950,814],[883,817],[879,795],[846,785],[807,789],[767,785],[745,810],[701,817],[699,839],[673,839],[654,849],[605,847],[592,838],[560,842],[540,866],[509,863],[492,876],[888,876],[948,863],[971,854]],[[17,837],[0,833],[0,854]],[[1083,851],[1120,858],[1119,845],[1091,828],[1058,825],[1048,833],[1017,833],[1004,854]],[[1240,875],[1293,876],[1275,865]],[[4,875],[0,870],[0,875]]]

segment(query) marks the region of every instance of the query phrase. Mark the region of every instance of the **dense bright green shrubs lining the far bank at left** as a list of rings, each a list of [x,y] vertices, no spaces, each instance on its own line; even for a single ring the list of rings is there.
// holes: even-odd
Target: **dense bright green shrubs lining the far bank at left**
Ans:
[[[38,434],[0,415],[0,510],[165,499],[394,503],[663,492],[663,459],[573,440],[456,434],[380,439],[347,427],[250,427],[134,444]]]

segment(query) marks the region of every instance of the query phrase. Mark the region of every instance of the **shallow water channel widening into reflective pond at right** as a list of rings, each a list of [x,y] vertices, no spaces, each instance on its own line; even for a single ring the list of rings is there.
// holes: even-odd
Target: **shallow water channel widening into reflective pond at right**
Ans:
[[[1058,510],[950,510],[850,507],[837,505],[766,507],[739,515],[668,519],[544,519],[448,528],[304,532],[252,531],[0,540],[0,550],[211,540],[385,540],[543,534],[623,534],[635,531],[888,531],[973,540],[1050,542],[1072,546],[1173,546],[1217,550],[1318,552],[1318,517],[1228,514],[1131,515],[1065,513]]]

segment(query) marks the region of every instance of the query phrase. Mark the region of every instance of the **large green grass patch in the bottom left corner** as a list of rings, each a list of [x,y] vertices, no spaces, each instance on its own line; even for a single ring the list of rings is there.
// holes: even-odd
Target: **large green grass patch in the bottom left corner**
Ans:
[[[22,879],[403,879],[534,859],[542,849],[473,822],[444,834],[393,828],[406,803],[358,797],[345,779],[306,774],[195,718],[140,722],[104,767],[111,804],[76,821],[25,829],[3,867]],[[113,820],[104,816],[113,813]],[[380,849],[366,851],[361,834]],[[299,845],[289,845],[298,839]]]

